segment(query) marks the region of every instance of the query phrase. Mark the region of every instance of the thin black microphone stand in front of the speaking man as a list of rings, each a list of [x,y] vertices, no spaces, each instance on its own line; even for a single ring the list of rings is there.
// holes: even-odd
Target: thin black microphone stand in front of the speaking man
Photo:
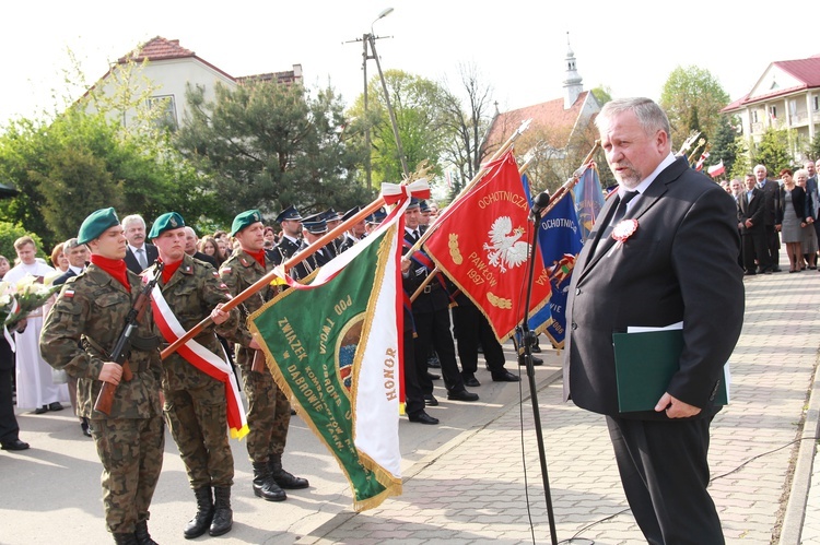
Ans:
[[[529,262],[527,271],[527,293],[526,300],[524,304],[524,320],[520,325],[516,328],[519,339],[524,344],[524,362],[527,366],[527,378],[529,379],[529,394],[532,401],[532,418],[536,427],[536,442],[538,443],[538,459],[541,462],[541,479],[543,481],[543,495],[547,501],[547,518],[550,523],[550,538],[552,545],[558,545],[558,537],[555,535],[555,516],[552,512],[552,495],[550,493],[550,478],[547,474],[547,453],[543,448],[543,433],[541,431],[541,414],[538,408],[538,393],[536,388],[536,370],[532,365],[532,346],[536,342],[535,333],[529,329],[529,304],[532,298],[532,280],[536,271],[536,259],[540,259],[538,254],[538,229],[541,226],[541,212],[535,212],[535,228],[532,229],[532,241],[530,244]]]

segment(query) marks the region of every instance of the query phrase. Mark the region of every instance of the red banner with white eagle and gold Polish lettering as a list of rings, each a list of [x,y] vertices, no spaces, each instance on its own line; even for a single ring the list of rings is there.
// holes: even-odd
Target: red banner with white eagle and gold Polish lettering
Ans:
[[[427,254],[482,310],[504,342],[524,318],[530,244],[535,229],[512,151],[487,165],[487,174],[436,221]],[[530,313],[550,299],[550,275],[535,260]]]

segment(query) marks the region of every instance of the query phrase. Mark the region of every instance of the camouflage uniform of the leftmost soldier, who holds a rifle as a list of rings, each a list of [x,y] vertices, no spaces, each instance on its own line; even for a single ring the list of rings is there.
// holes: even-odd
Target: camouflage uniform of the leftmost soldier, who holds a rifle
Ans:
[[[44,358],[78,379],[78,415],[92,422],[103,463],[105,521],[115,534],[132,533],[138,523],[149,519],[165,446],[160,407],[162,360],[150,306],[128,358],[132,380],[117,387],[109,416],[94,411],[103,386],[97,377],[108,360],[105,351],[116,344],[142,287],[141,279],[130,271],[128,281],[130,294],[108,273],[89,265],[66,283],[40,334]]]

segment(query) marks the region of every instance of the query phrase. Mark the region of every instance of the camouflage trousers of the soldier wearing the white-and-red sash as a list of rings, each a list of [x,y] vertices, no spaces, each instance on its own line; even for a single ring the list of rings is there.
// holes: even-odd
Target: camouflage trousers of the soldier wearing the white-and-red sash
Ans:
[[[233,485],[225,386],[210,380],[200,388],[166,391],[163,410],[191,488]]]

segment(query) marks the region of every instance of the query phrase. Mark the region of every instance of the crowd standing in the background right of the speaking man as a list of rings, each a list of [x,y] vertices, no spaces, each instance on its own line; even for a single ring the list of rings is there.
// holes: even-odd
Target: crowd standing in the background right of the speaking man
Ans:
[[[820,161],[807,161],[795,171],[783,168],[777,180],[768,177],[764,165],[757,165],[742,181],[722,182],[737,203],[742,241],[738,262],[747,276],[781,272],[781,245],[786,247],[789,273],[817,270],[819,165]]]

